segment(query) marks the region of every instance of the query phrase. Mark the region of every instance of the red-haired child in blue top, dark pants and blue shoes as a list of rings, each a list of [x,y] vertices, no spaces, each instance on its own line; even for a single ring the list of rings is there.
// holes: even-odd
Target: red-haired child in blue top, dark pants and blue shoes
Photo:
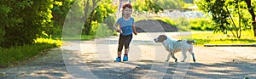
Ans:
[[[119,32],[119,48],[118,48],[118,57],[116,61],[121,61],[121,54],[123,47],[125,46],[125,55],[123,61],[128,60],[129,44],[132,38],[132,32],[137,35],[137,31],[134,25],[134,19],[131,17],[132,8],[131,4],[125,4],[122,7],[122,17],[117,20],[114,25],[115,31]],[[119,25],[119,28],[117,27]]]

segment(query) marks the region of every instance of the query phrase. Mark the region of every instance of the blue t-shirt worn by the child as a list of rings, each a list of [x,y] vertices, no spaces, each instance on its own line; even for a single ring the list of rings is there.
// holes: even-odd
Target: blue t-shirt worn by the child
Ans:
[[[130,18],[130,20],[125,20],[123,17],[119,18],[116,22],[119,24],[120,29],[122,30],[122,35],[127,36],[132,34],[132,25],[134,25],[134,19]]]

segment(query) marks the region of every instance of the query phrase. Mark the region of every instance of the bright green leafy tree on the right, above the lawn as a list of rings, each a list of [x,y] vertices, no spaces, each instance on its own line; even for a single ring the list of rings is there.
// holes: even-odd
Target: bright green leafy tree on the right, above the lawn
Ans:
[[[253,21],[248,18],[246,3],[241,0],[201,0],[197,4],[212,15],[214,32],[231,31],[233,37],[240,38],[241,31],[247,30]]]

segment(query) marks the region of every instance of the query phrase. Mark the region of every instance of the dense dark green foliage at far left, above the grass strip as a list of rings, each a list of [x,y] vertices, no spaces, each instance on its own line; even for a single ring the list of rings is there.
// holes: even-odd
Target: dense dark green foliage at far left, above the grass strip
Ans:
[[[52,0],[1,0],[0,46],[32,43],[52,26]]]

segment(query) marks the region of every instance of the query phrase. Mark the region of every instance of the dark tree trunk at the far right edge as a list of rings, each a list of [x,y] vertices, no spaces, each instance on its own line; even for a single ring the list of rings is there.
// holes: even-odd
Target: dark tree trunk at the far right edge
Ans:
[[[254,14],[254,11],[253,11],[251,0],[245,0],[245,2],[247,3],[248,11],[252,16],[254,37],[256,37],[256,20],[255,20],[255,14]]]

